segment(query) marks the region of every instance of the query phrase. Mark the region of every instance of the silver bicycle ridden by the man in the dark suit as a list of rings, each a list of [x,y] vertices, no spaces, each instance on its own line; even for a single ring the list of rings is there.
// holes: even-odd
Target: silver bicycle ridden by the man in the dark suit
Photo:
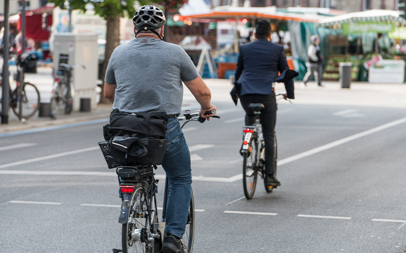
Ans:
[[[278,93],[275,97],[283,95],[283,93]],[[289,99],[287,100],[292,103]],[[247,199],[251,199],[254,196],[258,174],[261,179],[263,179],[265,175],[265,141],[263,139],[262,126],[259,119],[259,114],[261,114],[261,110],[264,106],[263,104],[252,103],[249,105],[249,108],[254,111],[255,123],[253,125],[243,126],[243,146],[240,150],[243,156],[243,188],[244,195]],[[278,161],[276,134],[274,138],[274,177],[276,177]],[[275,188],[277,187],[265,186],[265,191],[270,193]]]

